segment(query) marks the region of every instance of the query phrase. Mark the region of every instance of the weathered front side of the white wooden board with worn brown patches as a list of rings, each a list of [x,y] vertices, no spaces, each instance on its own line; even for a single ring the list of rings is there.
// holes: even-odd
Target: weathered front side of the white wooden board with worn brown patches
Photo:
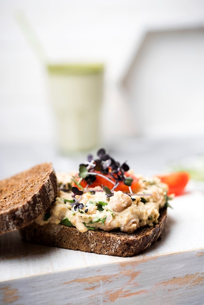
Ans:
[[[191,304],[204,300],[199,251],[129,259],[0,284],[0,304]],[[36,293],[38,291],[38,293]]]

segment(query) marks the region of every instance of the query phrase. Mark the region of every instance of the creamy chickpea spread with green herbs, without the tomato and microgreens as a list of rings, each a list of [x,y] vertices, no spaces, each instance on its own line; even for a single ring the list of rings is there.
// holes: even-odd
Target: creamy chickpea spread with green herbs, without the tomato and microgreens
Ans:
[[[60,180],[62,176],[64,178]],[[70,174],[58,174],[58,179],[60,185],[71,183]],[[110,198],[107,198],[102,187],[87,190],[82,195],[76,195],[83,204],[82,209],[76,210],[72,191],[59,191],[51,207],[36,222],[40,225],[74,226],[81,232],[88,229],[120,229],[130,233],[145,225],[153,226],[158,222],[159,209],[166,204],[167,186],[156,177],[151,180],[140,177],[139,183],[141,189],[138,194],[113,191]]]

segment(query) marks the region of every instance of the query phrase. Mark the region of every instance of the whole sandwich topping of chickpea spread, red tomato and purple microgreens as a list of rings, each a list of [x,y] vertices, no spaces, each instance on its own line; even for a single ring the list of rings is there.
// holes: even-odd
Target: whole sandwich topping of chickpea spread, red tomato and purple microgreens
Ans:
[[[79,231],[120,229],[134,232],[158,222],[167,207],[168,187],[160,179],[144,179],[106,154],[88,155],[79,172],[57,174],[59,193],[36,222],[76,227]]]

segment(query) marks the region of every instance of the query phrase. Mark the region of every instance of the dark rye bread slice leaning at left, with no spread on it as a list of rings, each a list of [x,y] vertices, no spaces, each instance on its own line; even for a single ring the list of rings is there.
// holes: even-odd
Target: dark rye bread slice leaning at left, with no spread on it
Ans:
[[[0,181],[0,234],[20,229],[46,210],[58,192],[51,163]]]

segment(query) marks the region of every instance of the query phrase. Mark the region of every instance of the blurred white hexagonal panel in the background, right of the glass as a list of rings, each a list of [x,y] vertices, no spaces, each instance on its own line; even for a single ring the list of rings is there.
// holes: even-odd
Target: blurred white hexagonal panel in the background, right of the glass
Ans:
[[[139,134],[204,133],[204,29],[147,33],[124,83]]]

